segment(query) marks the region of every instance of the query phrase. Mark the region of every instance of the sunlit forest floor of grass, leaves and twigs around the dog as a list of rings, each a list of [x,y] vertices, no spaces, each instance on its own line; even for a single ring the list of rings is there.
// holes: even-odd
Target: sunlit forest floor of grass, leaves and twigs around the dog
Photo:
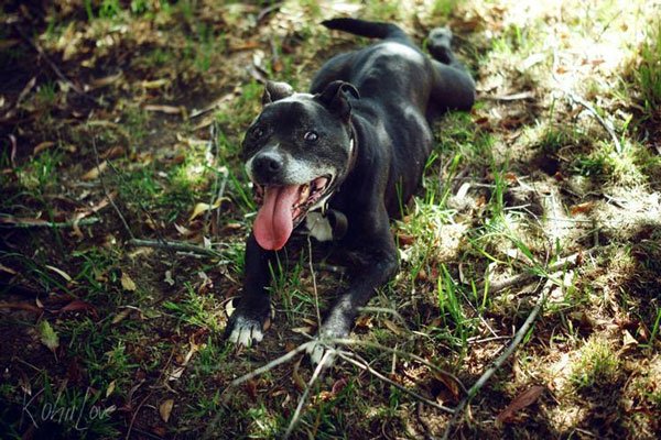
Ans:
[[[661,437],[659,2],[3,4],[2,438]],[[326,248],[292,248],[259,345],[223,330],[256,211],[242,133],[266,79],[305,90],[368,44],[335,15],[421,46],[448,25],[478,102],[434,127],[354,363],[313,381],[296,350],[344,283]]]

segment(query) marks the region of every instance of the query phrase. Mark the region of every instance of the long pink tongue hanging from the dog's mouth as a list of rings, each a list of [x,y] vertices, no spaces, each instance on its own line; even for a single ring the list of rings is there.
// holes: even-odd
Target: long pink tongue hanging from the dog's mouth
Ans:
[[[294,229],[293,206],[299,199],[299,185],[267,187],[264,204],[257,213],[252,230],[262,249],[278,251]]]

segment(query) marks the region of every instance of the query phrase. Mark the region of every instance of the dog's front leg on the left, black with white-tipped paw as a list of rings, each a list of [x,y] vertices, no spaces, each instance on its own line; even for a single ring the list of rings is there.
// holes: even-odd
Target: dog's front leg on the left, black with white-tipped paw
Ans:
[[[277,270],[277,253],[261,249],[251,233],[246,242],[243,292],[225,328],[225,337],[231,342],[250,346],[262,340],[271,312],[267,289],[271,284],[271,267]]]

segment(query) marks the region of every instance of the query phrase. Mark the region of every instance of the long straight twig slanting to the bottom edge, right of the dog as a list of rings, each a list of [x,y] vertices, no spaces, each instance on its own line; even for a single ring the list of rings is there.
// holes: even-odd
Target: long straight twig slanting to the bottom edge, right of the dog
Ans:
[[[530,327],[532,326],[532,323],[537,319],[538,315],[540,314],[542,307],[544,306],[544,302],[546,301],[546,297],[549,296],[549,292],[551,292],[551,287],[552,286],[553,286],[553,283],[551,282],[551,279],[548,279],[546,283],[544,284],[544,286],[542,287],[542,292],[540,293],[538,301],[534,305],[534,307],[532,308],[532,311],[530,312],[530,315],[528,316],[528,318],[525,319],[525,321],[523,322],[523,324],[519,328],[519,330],[514,334],[514,338],[512,339],[512,341],[510,342],[510,344],[498,356],[498,359],[496,359],[496,361],[494,361],[494,363],[491,364],[491,366],[489,366],[483,373],[483,375],[477,380],[477,382],[475,383],[475,385],[473,385],[470,387],[470,389],[468,389],[467,395],[455,407],[454,417],[447,424],[447,427],[445,428],[445,433],[443,436],[443,439],[447,439],[448,438],[448,436],[449,436],[449,433],[451,433],[454,425],[459,420],[460,417],[463,417],[464,410],[466,409],[466,406],[468,405],[468,403],[470,402],[470,399],[473,399],[473,397],[475,397],[477,395],[477,393],[480,391],[480,388],[483,386],[485,386],[485,384],[487,383],[487,381],[489,381],[489,378],[494,375],[494,373],[496,373],[496,371],[498,371],[498,369],[500,369],[500,366],[502,366],[502,364],[505,363],[505,361],[507,361],[507,359],[519,346],[519,344],[521,343],[521,340],[523,340],[523,337],[528,333],[528,331],[530,330]]]

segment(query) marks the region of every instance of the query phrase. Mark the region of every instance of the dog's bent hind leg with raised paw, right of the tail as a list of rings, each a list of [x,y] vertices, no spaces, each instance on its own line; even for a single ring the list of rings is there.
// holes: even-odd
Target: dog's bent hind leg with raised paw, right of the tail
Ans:
[[[455,58],[451,44],[452,32],[448,29],[436,28],[430,32],[426,47],[434,59],[427,118],[448,110],[470,110],[475,102],[475,81]]]

